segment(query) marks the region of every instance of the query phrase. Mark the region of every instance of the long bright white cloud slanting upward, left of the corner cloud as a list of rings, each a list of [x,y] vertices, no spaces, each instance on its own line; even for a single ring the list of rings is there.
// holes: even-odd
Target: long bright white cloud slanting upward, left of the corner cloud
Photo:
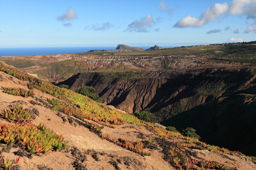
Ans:
[[[205,13],[202,13],[199,18],[187,16],[179,20],[174,27],[185,28],[185,27],[203,27],[203,25],[215,20],[221,15],[228,11],[228,3],[215,3],[214,8],[209,7]]]

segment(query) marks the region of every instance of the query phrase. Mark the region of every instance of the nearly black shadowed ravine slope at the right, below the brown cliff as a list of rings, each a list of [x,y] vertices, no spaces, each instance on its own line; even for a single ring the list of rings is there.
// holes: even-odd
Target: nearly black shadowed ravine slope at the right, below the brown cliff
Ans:
[[[238,91],[181,112],[163,124],[180,131],[193,127],[204,142],[255,155],[256,89],[248,90],[252,91]]]

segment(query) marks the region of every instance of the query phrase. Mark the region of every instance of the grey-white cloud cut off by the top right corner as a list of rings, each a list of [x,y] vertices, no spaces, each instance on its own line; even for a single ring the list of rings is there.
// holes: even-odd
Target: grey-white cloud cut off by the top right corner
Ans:
[[[256,14],[256,0],[234,0],[229,8],[229,13],[236,14]]]

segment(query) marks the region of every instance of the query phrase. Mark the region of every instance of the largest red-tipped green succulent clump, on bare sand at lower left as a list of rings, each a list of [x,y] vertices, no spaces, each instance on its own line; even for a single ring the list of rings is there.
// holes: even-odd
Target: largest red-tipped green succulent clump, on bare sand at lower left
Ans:
[[[61,150],[67,144],[63,142],[63,136],[57,135],[45,125],[0,125],[0,142],[14,143],[19,141],[32,153],[47,153],[55,148]]]

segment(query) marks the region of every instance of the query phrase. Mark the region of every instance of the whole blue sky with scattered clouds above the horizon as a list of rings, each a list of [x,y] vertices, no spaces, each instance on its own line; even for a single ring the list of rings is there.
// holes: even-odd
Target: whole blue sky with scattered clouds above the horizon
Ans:
[[[0,0],[0,47],[179,46],[256,40],[256,0]]]

